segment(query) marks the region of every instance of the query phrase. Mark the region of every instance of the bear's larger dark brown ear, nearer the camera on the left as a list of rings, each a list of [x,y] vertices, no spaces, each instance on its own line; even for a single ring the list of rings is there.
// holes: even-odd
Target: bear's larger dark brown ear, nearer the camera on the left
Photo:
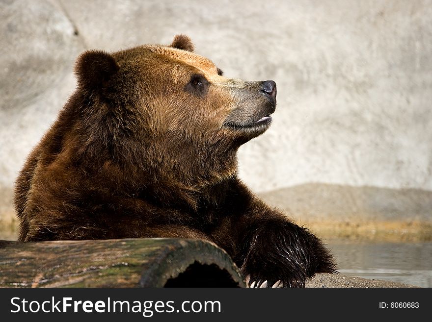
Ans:
[[[88,90],[105,88],[107,82],[119,70],[110,54],[101,50],[88,50],[77,59],[75,73],[79,85]]]

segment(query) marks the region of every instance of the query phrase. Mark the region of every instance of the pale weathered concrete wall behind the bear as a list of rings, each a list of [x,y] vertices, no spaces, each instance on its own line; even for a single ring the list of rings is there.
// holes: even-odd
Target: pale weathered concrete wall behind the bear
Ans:
[[[74,90],[76,56],[178,33],[226,76],[277,83],[274,123],[240,150],[253,190],[432,190],[432,1],[4,0],[0,32],[3,218],[27,153]]]

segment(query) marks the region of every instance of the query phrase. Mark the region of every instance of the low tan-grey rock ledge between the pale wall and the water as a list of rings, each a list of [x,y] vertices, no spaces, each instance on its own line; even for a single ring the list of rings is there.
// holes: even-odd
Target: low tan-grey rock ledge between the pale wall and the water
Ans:
[[[432,192],[309,183],[259,194],[326,237],[432,240]]]

